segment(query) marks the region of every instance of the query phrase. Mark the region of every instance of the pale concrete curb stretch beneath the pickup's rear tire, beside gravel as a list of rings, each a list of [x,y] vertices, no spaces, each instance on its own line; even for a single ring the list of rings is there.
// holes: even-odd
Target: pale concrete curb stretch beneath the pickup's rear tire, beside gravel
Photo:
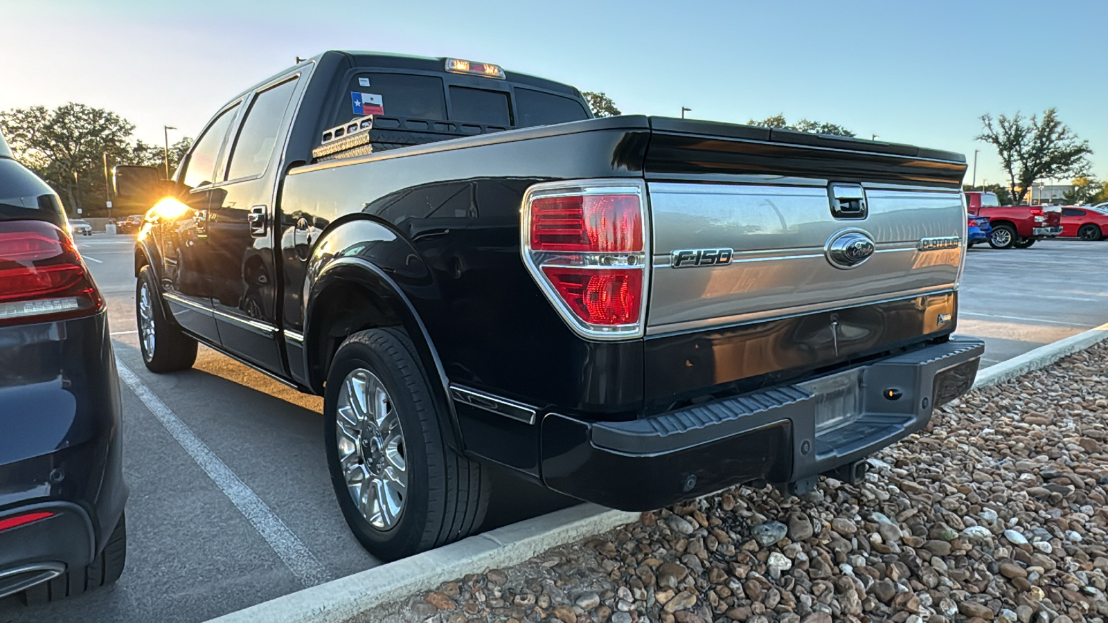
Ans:
[[[512,566],[544,551],[638,520],[596,504],[527,519],[213,619],[213,623],[335,623],[466,573]]]

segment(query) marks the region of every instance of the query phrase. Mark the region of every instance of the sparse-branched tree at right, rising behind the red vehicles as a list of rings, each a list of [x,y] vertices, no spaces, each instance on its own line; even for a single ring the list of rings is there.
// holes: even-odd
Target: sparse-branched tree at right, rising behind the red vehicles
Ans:
[[[1058,119],[1057,109],[1047,109],[1043,118],[1030,119],[1016,112],[995,120],[986,113],[981,118],[983,132],[977,135],[996,147],[1001,164],[1008,174],[1008,191],[1023,197],[1036,180],[1045,177],[1081,177],[1089,170],[1088,141],[1081,141]]]

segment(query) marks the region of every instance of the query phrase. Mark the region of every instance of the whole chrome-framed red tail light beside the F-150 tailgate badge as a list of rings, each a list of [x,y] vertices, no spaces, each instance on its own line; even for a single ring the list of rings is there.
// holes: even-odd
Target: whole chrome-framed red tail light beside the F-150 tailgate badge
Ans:
[[[640,183],[536,184],[522,217],[523,262],[574,330],[596,339],[643,335],[649,241]]]

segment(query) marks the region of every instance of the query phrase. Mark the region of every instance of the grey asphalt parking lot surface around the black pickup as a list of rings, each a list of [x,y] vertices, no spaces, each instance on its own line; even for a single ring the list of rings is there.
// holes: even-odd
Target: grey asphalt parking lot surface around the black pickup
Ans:
[[[133,239],[78,241],[107,298],[124,381],[127,566],[119,583],[24,607],[0,622],[204,621],[378,564],[350,535],[320,442],[321,400],[201,349],[194,369],[150,374],[134,321]],[[986,365],[1108,323],[1108,242],[973,248],[958,333],[984,337]],[[517,499],[521,496],[515,496]],[[516,514],[564,503],[535,491]]]

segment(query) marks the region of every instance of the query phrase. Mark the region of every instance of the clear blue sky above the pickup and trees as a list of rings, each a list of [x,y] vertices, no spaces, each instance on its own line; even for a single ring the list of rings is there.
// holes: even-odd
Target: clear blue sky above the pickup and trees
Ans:
[[[971,162],[979,149],[978,183],[1002,181],[978,116],[1057,106],[1108,177],[1105,0],[0,0],[0,109],[104,106],[157,143],[296,55],[351,49],[499,63],[627,113],[784,113]]]

